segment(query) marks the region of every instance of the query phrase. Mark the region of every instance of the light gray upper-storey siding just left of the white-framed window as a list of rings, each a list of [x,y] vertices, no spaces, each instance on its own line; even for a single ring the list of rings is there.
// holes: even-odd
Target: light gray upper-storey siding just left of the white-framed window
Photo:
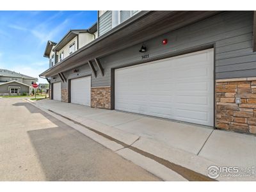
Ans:
[[[112,29],[112,12],[107,11],[99,17],[99,36]]]

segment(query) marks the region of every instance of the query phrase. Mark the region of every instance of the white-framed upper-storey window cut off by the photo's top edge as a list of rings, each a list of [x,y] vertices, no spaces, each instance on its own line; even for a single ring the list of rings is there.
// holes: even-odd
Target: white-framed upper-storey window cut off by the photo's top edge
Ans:
[[[113,11],[112,28],[115,28],[115,26],[129,19],[138,12],[139,11]]]

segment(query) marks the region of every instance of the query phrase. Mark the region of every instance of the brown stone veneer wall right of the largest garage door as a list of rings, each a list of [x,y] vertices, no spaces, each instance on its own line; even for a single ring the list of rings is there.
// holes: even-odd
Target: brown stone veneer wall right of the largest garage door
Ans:
[[[216,127],[256,134],[256,77],[216,80]]]

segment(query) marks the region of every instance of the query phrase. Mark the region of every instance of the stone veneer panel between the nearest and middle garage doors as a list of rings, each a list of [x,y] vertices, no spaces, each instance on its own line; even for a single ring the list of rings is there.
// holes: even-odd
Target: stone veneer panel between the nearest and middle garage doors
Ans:
[[[110,87],[92,87],[91,90],[92,108],[111,109],[111,90]]]

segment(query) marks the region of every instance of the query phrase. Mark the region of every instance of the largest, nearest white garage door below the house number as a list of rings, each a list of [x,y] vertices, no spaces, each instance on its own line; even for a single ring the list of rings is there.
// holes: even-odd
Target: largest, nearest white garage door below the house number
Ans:
[[[115,70],[115,109],[213,125],[213,49]]]

